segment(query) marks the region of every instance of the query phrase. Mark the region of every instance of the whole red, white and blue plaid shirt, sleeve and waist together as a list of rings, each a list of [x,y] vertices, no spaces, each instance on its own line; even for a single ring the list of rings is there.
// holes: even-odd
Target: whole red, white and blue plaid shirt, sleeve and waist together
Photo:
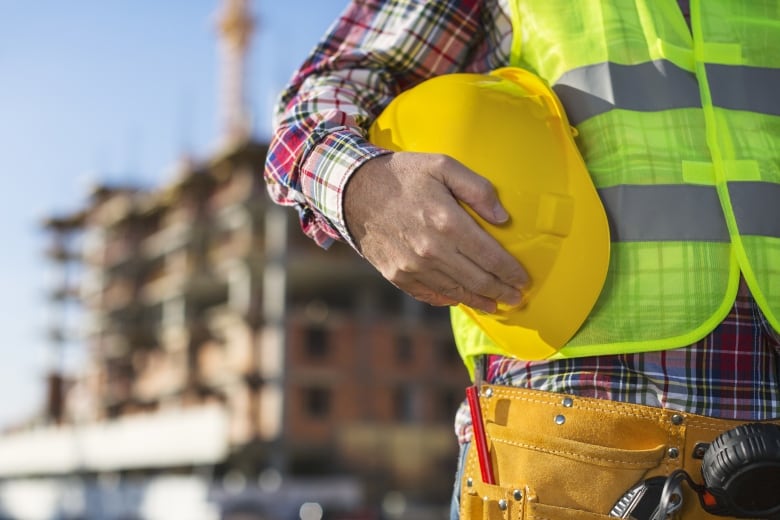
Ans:
[[[386,153],[366,129],[399,92],[455,71],[506,65],[509,0],[350,4],[282,94],[266,163],[271,197],[298,209],[321,246],[350,241],[341,194],[358,167]],[[687,0],[681,8],[688,14]],[[687,16],[686,16],[687,17]],[[550,362],[493,356],[497,384],[662,406],[721,418],[780,417],[778,335],[744,283],[726,320],[688,347]],[[461,408],[456,431],[470,437]]]

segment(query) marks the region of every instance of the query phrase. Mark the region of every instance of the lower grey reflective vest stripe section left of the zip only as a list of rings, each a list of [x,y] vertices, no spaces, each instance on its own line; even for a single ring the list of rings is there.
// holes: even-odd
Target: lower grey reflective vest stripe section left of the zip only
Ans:
[[[598,191],[613,242],[730,241],[712,186],[630,185]]]

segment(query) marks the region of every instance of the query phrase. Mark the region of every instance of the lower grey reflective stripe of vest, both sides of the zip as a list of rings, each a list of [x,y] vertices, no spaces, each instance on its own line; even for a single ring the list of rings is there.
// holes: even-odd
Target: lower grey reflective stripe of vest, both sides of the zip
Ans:
[[[730,182],[739,232],[780,238],[780,184]],[[613,242],[729,242],[713,186],[625,185],[598,190]]]

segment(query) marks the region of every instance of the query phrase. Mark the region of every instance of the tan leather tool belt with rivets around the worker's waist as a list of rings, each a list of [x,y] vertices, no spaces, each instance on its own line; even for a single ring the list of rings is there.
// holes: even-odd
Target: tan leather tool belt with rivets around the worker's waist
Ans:
[[[741,421],[507,386],[483,385],[480,403],[496,485],[468,450],[461,519],[612,518],[638,482],[685,469],[701,482],[701,458]],[[780,420],[771,421],[780,424]],[[678,518],[722,519],[683,489]]]

